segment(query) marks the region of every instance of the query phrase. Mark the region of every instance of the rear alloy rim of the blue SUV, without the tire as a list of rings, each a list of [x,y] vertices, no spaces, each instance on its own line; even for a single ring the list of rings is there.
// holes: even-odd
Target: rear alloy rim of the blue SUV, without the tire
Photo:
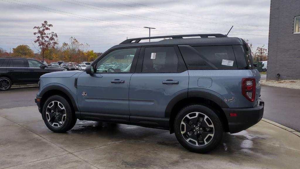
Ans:
[[[184,116],[180,124],[184,140],[193,146],[205,146],[214,137],[214,124],[200,112],[191,112]]]

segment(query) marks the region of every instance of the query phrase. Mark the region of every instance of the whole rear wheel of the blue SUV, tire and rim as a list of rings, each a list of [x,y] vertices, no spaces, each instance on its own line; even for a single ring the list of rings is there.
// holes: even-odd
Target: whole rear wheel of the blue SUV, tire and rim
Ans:
[[[190,105],[181,109],[176,115],[174,130],[184,148],[198,153],[216,148],[223,136],[220,118],[213,109],[204,105]]]

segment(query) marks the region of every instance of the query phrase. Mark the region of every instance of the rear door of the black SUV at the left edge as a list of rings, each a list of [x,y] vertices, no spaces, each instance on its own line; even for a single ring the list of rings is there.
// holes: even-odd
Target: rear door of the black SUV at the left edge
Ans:
[[[10,59],[7,66],[7,74],[13,84],[27,83],[28,69],[25,59]]]

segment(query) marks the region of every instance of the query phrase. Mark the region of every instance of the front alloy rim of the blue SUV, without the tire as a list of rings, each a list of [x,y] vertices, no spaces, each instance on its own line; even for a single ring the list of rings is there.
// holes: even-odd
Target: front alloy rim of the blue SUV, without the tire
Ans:
[[[53,127],[61,127],[67,118],[64,105],[59,101],[50,102],[46,108],[46,118]]]

